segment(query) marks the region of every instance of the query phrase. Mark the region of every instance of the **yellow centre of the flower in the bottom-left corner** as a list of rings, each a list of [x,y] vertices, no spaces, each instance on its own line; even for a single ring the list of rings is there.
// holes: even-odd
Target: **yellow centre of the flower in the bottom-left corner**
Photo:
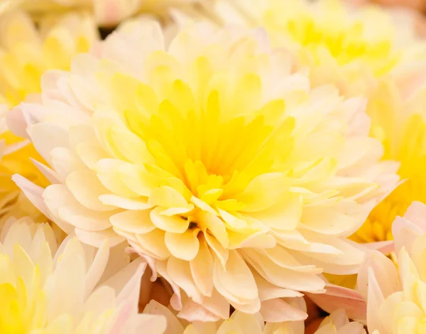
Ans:
[[[28,257],[17,244],[14,254]],[[0,254],[0,333],[27,334],[45,325],[45,297],[40,286],[40,269],[17,268],[6,254]]]

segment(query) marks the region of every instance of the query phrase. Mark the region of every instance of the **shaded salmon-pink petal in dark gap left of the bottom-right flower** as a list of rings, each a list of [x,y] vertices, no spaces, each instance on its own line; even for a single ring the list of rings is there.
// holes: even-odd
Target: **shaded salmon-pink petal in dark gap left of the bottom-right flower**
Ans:
[[[334,284],[326,284],[325,289],[325,293],[306,293],[306,295],[329,313],[344,308],[351,319],[366,318],[366,303],[358,291]]]

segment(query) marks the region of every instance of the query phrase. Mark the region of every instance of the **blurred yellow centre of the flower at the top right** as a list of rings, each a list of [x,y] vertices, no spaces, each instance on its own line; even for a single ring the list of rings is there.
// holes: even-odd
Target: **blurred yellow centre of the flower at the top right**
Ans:
[[[398,63],[398,55],[392,50],[393,41],[388,36],[369,40],[364,23],[345,17],[342,8],[328,9],[324,17],[301,11],[297,16],[285,18],[283,10],[282,6],[273,6],[263,14],[263,24],[269,31],[289,36],[316,59],[317,65],[321,62],[322,49],[328,50],[337,64],[361,61],[376,76],[385,75]]]

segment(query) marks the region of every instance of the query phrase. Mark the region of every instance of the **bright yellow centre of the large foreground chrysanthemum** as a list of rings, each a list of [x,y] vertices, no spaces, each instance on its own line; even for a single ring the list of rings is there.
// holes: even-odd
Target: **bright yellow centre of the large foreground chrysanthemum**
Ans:
[[[174,61],[160,51],[156,51],[151,60]],[[254,178],[266,174],[266,178],[276,179],[279,193],[285,189],[285,174],[281,171],[293,149],[291,136],[295,122],[293,117],[283,116],[283,99],[255,109],[261,104],[262,94],[258,75],[237,75],[236,82],[231,82],[229,77],[216,74],[217,80],[211,81],[209,62],[204,56],[195,60],[195,73],[200,80],[197,89],[182,80],[170,80],[172,73],[166,65],[150,66],[151,86],[117,74],[113,79],[114,107],[124,112],[126,125],[143,140],[146,149],[138,146],[131,149],[131,142],[137,141],[131,137],[128,140],[129,134],[124,136],[125,132],[114,127],[110,134],[105,134],[109,138],[105,144],[123,161],[129,158],[135,161],[133,153],[126,154],[130,154],[130,150],[137,152],[137,160],[149,173],[146,181],[149,178],[149,184],[156,188],[153,193],[147,190],[147,195],[151,193],[150,203],[164,208],[180,205],[181,212],[175,213],[187,218],[190,228],[203,228],[200,221],[205,220],[205,212],[219,210],[228,224],[235,224],[227,227],[244,229],[247,222],[231,214],[262,210],[278,200],[273,198],[273,191],[254,195],[253,189],[249,189],[246,195],[244,190],[249,183],[251,188],[261,190],[261,180],[251,183]],[[259,64],[261,57],[253,62]],[[204,80],[209,80],[209,85],[215,82],[217,87],[205,86]],[[230,90],[234,92],[228,99],[226,92]],[[136,104],[132,102],[135,97]],[[129,148],[125,149],[124,145]],[[275,171],[278,173],[273,174]],[[297,171],[294,173],[297,175]],[[171,205],[171,196],[175,197],[174,205]],[[177,196],[185,201],[178,201]],[[192,210],[194,205],[187,203],[193,203],[197,210]],[[170,209],[170,214],[172,211]],[[256,227],[247,232],[253,230]],[[218,239],[226,239],[226,232],[215,232],[223,237],[217,236]]]

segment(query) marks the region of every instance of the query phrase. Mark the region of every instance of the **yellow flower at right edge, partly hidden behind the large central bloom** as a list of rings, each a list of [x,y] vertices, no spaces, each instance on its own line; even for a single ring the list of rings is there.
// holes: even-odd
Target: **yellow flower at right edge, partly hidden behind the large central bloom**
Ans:
[[[408,94],[398,86],[393,80],[382,82],[370,97],[368,114],[371,136],[383,142],[384,157],[400,162],[398,174],[404,182],[371,212],[353,237],[357,242],[393,239],[391,222],[395,217],[404,215],[413,200],[426,203],[426,119],[422,112],[426,87],[415,84],[417,88],[410,88]]]

